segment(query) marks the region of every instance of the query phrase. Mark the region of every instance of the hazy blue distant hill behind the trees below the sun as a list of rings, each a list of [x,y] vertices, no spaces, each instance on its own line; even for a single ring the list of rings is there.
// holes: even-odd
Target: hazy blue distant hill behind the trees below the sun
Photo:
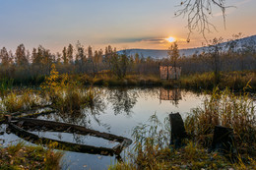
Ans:
[[[228,43],[228,42],[229,41],[222,43],[224,48],[225,48],[226,43]],[[245,43],[252,44],[253,42],[256,44],[256,35],[238,39],[237,40],[238,48],[240,48],[240,46],[242,44],[245,44]],[[182,55],[191,56],[196,52],[201,53],[203,51],[207,51],[207,49],[208,49],[208,47],[180,49],[179,54],[181,56]],[[162,58],[166,58],[168,56],[167,50],[158,50],[158,49],[127,49],[127,50],[118,51],[118,53],[119,54],[126,53],[128,56],[131,56],[131,55],[135,56],[135,54],[138,53],[140,55],[140,57],[142,57],[142,56],[149,57],[150,56],[155,59],[162,59]]]

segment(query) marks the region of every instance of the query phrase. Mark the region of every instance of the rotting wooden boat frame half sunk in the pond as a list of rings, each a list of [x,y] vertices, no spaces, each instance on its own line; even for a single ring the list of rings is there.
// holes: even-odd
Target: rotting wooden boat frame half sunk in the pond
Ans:
[[[112,134],[107,133],[100,133],[95,130],[90,130],[85,127],[67,124],[67,123],[58,123],[53,121],[45,121],[45,120],[38,120],[38,119],[31,119],[31,118],[13,118],[11,119],[10,116],[7,118],[8,124],[12,131],[17,134],[19,137],[33,142],[33,143],[42,143],[47,144],[49,142],[58,142],[61,149],[69,150],[69,151],[76,151],[76,152],[86,152],[86,153],[93,153],[93,154],[101,154],[101,155],[119,155],[121,151],[129,146],[132,141],[127,138],[115,136]],[[21,127],[20,127],[20,126]],[[43,137],[38,137],[27,131],[28,129],[44,129],[44,130],[51,130],[54,132],[66,132],[66,133],[75,133],[79,135],[91,135],[97,138],[101,138],[108,141],[120,142],[113,148],[107,147],[96,147],[87,144],[78,144],[73,142],[62,142],[59,140],[52,140]]]

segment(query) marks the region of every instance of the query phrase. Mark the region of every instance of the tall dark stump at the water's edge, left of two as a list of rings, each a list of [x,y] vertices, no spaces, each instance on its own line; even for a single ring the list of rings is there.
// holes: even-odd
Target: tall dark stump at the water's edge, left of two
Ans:
[[[184,145],[184,139],[187,138],[184,122],[179,113],[169,114],[169,122],[171,128],[170,145],[179,148]]]

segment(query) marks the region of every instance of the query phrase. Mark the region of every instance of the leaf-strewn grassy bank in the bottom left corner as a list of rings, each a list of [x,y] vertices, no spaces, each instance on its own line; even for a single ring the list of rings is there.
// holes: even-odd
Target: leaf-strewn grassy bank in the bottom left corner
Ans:
[[[0,147],[0,169],[61,169],[62,152],[44,149],[42,146],[28,146],[23,142]]]

